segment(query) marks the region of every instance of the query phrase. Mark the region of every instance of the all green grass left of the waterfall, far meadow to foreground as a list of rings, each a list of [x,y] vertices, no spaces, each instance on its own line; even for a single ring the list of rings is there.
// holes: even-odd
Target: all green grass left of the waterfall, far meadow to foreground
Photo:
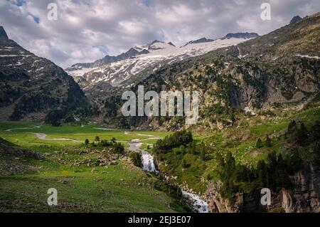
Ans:
[[[0,176],[0,212],[176,212],[185,211],[174,199],[154,189],[154,176],[119,159],[117,165],[87,167],[73,165],[81,142],[41,140],[32,133],[45,133],[47,138],[68,138],[84,141],[99,136],[129,142],[131,139],[147,139],[151,132],[97,130],[100,125],[63,125],[51,127],[38,122],[1,122],[0,137],[17,147],[33,149],[46,154],[46,160],[24,159],[24,162],[41,167],[26,174]],[[6,131],[9,129],[14,129]],[[20,128],[20,129],[18,129]],[[137,134],[146,134],[137,135]],[[168,132],[151,133],[164,137]],[[144,143],[154,143],[148,139]],[[94,159],[95,154],[83,157]],[[92,169],[95,171],[92,172]],[[50,188],[58,190],[58,206],[47,204]]]

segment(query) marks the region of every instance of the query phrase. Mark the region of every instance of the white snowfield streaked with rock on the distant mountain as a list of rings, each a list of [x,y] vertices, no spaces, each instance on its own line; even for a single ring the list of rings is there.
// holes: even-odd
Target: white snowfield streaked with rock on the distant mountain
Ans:
[[[183,47],[173,46],[171,43],[154,41],[151,44],[136,46],[137,51],[146,53],[137,55],[125,60],[119,60],[98,68],[82,68],[68,71],[69,75],[75,79],[85,79],[89,85],[95,85],[101,81],[110,83],[114,87],[127,87],[124,81],[134,77],[146,68],[153,68],[153,71],[161,65],[175,63],[186,58],[201,56],[218,48],[236,46],[250,38],[220,38],[215,41],[205,43],[188,43]]]

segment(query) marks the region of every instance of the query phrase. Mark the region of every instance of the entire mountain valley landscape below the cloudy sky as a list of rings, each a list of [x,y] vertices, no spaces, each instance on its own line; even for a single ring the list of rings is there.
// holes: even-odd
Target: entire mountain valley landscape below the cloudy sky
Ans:
[[[316,13],[63,70],[0,26],[0,213],[319,213],[319,37]]]

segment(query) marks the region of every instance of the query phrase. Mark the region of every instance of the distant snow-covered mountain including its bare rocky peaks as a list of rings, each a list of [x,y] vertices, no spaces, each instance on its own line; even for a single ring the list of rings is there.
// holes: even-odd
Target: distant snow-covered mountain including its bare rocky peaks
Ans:
[[[120,56],[106,56],[95,63],[76,64],[67,68],[66,71],[82,85],[82,88],[88,89],[88,86],[100,82],[107,82],[116,87],[130,88],[163,65],[199,56],[217,48],[236,45],[258,36],[256,33],[237,34],[234,36],[229,34],[229,36],[217,40],[201,38],[198,41],[191,41],[181,48],[172,43],[153,41],[143,46],[135,46]],[[143,71],[144,76],[141,75]],[[138,74],[140,76],[136,76]]]

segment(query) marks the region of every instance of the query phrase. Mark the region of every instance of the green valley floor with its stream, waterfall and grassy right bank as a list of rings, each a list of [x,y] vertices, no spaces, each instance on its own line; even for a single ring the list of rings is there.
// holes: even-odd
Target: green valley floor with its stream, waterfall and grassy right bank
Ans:
[[[305,122],[310,129],[314,122],[320,120],[319,116],[319,107],[294,111],[278,120],[247,115],[247,120],[221,132],[195,132],[196,146],[207,147],[203,153],[201,147],[196,153],[188,152],[186,145],[164,154],[154,153],[156,149],[152,147],[159,139],[173,132],[112,130],[93,122],[60,127],[43,122],[1,122],[0,137],[5,142],[14,147],[31,149],[44,157],[43,160],[36,160],[11,157],[0,152],[1,168],[9,168],[0,176],[3,191],[1,209],[50,212],[186,211],[176,199],[165,193],[166,190],[159,191],[159,186],[156,186],[159,179],[152,173],[158,172],[158,169],[161,177],[178,186],[186,198],[197,200],[195,196],[201,196],[203,200],[194,201],[196,206],[202,207],[201,201],[206,201],[210,207],[210,184],[220,179],[218,155],[235,152],[237,163],[253,168],[259,160],[267,159],[270,149],[283,155],[290,151],[290,148],[284,148],[284,134],[290,121]],[[237,137],[234,137],[234,132],[237,132]],[[272,138],[272,147],[257,148],[257,139],[267,136]],[[115,139],[124,145],[127,154],[90,146],[90,143],[97,142],[97,137],[101,142],[103,139]],[[85,139],[89,140],[89,145],[85,145]],[[308,149],[300,150],[304,150],[302,157],[309,162]],[[134,166],[129,158],[131,152],[142,152],[141,167],[146,171]],[[15,172],[15,162],[28,164],[32,170]],[[46,204],[46,188],[58,189],[58,206],[50,208]],[[10,201],[12,198],[15,198],[14,203]]]

